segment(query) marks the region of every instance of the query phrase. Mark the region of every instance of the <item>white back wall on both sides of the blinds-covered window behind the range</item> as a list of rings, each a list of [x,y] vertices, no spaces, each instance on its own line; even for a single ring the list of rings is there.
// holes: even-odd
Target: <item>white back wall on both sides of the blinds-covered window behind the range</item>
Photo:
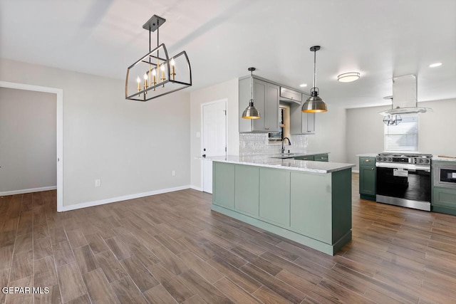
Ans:
[[[456,157],[456,99],[427,101],[418,105],[433,110],[420,115],[420,152]],[[378,112],[387,109],[384,106],[346,110],[348,162],[358,164],[356,154],[383,152],[384,125]]]

